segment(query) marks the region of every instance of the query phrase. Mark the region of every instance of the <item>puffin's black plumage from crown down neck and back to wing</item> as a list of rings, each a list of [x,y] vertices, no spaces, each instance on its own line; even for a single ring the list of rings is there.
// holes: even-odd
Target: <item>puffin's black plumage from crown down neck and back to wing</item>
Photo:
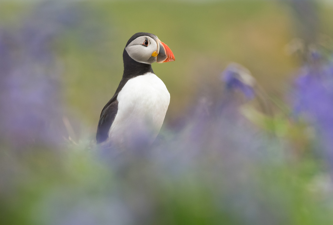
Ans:
[[[125,48],[134,39],[136,39],[140,36],[150,36],[154,39],[157,38],[154,34],[150,34],[150,33],[144,33],[144,32],[136,33],[128,40]],[[96,133],[97,143],[101,143],[108,139],[109,129],[110,129],[113,121],[115,120],[115,117],[118,112],[117,97],[118,97],[119,92],[123,89],[123,87],[127,83],[127,81],[136,76],[144,75],[145,73],[148,73],[148,72],[154,73],[151,64],[140,63],[140,62],[135,61],[134,59],[132,59],[129,56],[129,54],[127,53],[127,51],[125,49],[123,52],[123,61],[124,61],[123,78],[119,83],[116,93],[110,99],[110,101],[104,106],[104,108],[102,109],[102,112],[101,112],[100,121],[98,122],[97,133]]]

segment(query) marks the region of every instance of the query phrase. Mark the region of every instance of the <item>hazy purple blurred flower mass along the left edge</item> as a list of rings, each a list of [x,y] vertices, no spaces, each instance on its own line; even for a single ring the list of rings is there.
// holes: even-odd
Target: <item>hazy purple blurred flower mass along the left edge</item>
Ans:
[[[41,4],[18,28],[0,29],[0,134],[18,148],[59,144],[62,68],[55,40],[78,24],[78,10],[66,4]]]

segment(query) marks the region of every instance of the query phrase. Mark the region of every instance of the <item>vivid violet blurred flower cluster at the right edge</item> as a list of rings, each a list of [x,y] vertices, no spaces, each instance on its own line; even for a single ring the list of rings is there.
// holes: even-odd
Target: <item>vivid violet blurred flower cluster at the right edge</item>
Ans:
[[[293,95],[295,113],[315,127],[333,172],[333,64],[304,66]]]

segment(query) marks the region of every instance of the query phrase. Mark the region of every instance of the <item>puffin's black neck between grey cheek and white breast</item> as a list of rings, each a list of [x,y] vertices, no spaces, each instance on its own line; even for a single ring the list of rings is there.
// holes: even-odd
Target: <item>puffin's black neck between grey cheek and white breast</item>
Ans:
[[[124,49],[123,53],[124,60],[124,74],[123,78],[133,78],[145,73],[151,72],[154,73],[151,64],[140,63],[132,59],[127,51]]]

